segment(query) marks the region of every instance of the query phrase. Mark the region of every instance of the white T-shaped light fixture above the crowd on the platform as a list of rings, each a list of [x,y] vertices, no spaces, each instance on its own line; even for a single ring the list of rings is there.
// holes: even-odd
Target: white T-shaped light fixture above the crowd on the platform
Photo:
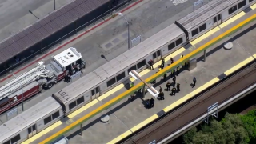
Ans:
[[[158,97],[158,90],[155,90],[153,86],[150,86],[148,83],[146,83],[142,77],[135,71],[135,70],[131,70],[129,73],[134,79],[136,79],[138,81],[138,79],[140,79],[144,85],[142,87],[142,97],[145,98],[145,86],[148,87],[148,89],[146,89],[150,94],[152,94],[155,98]]]

